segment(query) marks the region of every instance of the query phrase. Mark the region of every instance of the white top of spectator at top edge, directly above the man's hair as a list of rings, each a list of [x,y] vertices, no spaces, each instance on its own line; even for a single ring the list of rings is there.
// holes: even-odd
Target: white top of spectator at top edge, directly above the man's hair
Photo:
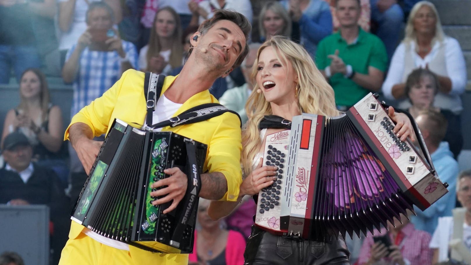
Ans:
[[[203,0],[198,5],[208,12],[208,19],[213,16],[215,10],[222,8],[219,6],[218,0]],[[234,9],[247,17],[250,24],[252,24],[253,11],[250,0],[226,0],[223,9]],[[199,24],[203,23],[204,20],[205,18],[200,17]]]

